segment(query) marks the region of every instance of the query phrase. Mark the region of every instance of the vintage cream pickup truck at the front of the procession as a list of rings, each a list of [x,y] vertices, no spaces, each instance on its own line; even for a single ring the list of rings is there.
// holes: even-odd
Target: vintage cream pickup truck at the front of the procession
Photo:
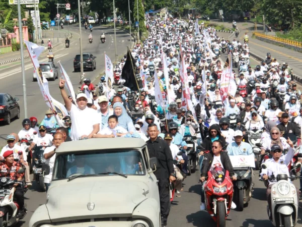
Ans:
[[[56,149],[46,204],[28,226],[161,226],[153,173],[158,163],[149,158],[144,140],[94,140],[65,142]],[[42,165],[42,173],[51,174],[49,165]]]

